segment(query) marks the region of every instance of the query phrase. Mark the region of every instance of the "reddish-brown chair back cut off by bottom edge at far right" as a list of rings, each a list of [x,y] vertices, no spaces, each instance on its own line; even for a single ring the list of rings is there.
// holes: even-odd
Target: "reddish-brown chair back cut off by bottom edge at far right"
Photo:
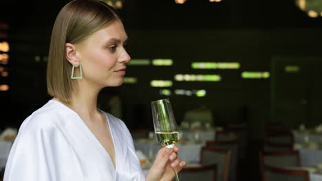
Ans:
[[[309,181],[309,172],[301,169],[283,169],[264,165],[263,181]]]

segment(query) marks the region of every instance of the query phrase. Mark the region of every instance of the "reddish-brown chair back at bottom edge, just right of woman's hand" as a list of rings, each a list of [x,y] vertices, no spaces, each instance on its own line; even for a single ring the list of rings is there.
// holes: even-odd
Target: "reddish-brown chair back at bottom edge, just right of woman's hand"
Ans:
[[[180,180],[184,180],[184,181],[195,181],[195,180],[215,181],[217,178],[217,165],[187,167],[182,169],[178,176]]]

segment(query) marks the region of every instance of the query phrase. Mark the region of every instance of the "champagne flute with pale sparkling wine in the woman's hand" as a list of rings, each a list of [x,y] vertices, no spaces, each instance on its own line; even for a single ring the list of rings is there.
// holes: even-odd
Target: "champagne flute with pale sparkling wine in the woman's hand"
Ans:
[[[169,99],[160,99],[151,102],[153,125],[155,136],[160,145],[173,149],[179,140],[177,123],[173,116],[173,110]],[[175,171],[175,169],[173,169]],[[179,181],[178,173],[175,171],[175,179]]]

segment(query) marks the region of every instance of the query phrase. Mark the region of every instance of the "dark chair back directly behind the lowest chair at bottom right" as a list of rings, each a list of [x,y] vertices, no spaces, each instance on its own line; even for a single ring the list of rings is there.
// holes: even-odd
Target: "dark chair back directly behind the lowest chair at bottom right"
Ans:
[[[261,167],[261,176],[264,180],[264,165],[272,167],[300,167],[301,159],[299,151],[260,152],[259,165]]]

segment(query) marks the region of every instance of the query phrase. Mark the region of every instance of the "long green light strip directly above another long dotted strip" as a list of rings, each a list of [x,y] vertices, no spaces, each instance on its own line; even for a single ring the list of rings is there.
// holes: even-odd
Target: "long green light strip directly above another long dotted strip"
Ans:
[[[239,69],[239,62],[192,62],[193,69]]]

